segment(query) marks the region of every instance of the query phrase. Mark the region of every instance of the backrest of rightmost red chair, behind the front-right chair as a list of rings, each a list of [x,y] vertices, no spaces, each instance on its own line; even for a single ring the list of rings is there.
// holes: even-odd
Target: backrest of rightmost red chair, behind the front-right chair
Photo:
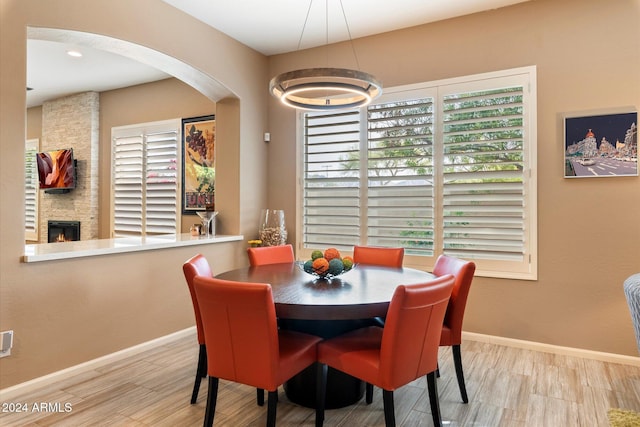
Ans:
[[[462,340],[462,321],[464,320],[464,310],[467,306],[467,297],[476,265],[472,261],[465,261],[460,258],[440,255],[433,268],[433,274],[443,276],[453,274],[456,278],[451,292],[451,299],[447,307],[447,314],[444,317],[444,325],[451,329],[452,344],[460,344]]]

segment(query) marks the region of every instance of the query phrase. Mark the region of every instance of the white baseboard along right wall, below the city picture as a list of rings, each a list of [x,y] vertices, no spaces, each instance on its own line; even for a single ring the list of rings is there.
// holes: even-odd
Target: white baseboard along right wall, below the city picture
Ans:
[[[475,332],[462,332],[462,338],[470,341],[486,342],[490,344],[504,345],[507,347],[522,348],[525,350],[553,353],[563,356],[582,357],[584,359],[600,360],[602,362],[619,363],[622,365],[640,366],[640,357],[626,356],[624,354],[604,353],[600,351],[585,350],[582,348],[562,347],[559,345],[545,344],[534,341],[524,341],[514,338],[498,337],[493,335],[477,334]]]

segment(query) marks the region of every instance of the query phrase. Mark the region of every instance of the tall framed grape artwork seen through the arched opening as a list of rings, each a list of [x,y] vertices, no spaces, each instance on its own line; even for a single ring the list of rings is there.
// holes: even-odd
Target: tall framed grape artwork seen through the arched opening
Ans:
[[[182,119],[182,213],[215,209],[215,116]]]

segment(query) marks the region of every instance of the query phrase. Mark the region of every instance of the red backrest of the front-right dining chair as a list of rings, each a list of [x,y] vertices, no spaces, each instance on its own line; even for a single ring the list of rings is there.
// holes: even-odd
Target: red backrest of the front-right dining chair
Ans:
[[[454,280],[446,275],[396,288],[380,347],[380,381],[388,390],[436,370],[442,321]]]

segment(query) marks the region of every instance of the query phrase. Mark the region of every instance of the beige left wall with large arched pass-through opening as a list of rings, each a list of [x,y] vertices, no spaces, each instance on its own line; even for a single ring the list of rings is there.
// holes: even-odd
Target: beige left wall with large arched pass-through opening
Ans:
[[[147,16],[150,10],[153,20],[129,19]],[[210,97],[217,102],[217,154],[224,159],[217,171],[216,207],[224,221],[220,231],[253,233],[258,222],[255,206],[266,205],[267,192],[262,142],[267,128],[264,88],[268,64],[264,56],[159,0],[2,0],[0,330],[12,329],[15,335],[11,356],[0,359],[0,388],[194,324],[181,272],[193,248],[20,262],[24,251],[27,27],[70,29],[124,40],[179,59],[180,64],[170,65],[182,77],[197,74],[184,64],[204,73],[208,79],[194,83],[215,95]],[[38,114],[33,115],[38,120]],[[215,271],[246,263],[244,249],[242,242],[198,247]]]

